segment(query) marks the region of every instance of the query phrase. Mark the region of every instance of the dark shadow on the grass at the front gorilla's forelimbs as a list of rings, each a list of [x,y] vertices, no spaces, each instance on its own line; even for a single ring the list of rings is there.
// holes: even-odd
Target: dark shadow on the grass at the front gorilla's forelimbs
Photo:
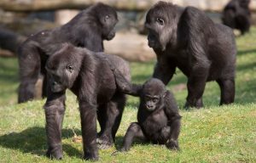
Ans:
[[[75,131],[79,133],[79,130]],[[71,129],[62,129],[62,139],[72,138]],[[11,132],[0,136],[0,146],[7,149],[17,149],[23,153],[45,156],[47,145],[44,127],[34,126],[22,132]],[[73,148],[70,144],[62,143],[63,151],[70,157],[81,158],[81,151]]]

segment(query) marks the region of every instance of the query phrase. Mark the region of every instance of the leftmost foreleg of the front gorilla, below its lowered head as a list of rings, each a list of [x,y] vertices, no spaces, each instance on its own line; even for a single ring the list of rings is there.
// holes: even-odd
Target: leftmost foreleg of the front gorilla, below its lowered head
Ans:
[[[46,118],[46,135],[49,149],[46,153],[48,157],[61,159],[62,145],[61,145],[61,127],[63,116],[65,113],[65,93],[51,93],[44,105]]]

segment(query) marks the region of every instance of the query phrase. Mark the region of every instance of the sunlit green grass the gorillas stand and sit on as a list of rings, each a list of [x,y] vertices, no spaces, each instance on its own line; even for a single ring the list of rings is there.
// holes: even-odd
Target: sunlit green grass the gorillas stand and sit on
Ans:
[[[137,141],[126,154],[111,156],[119,148],[125,130],[136,121],[137,98],[129,97],[117,133],[115,147],[100,150],[100,162],[256,162],[256,28],[237,37],[236,103],[218,106],[219,88],[207,84],[205,107],[183,110],[187,95],[186,78],[179,71],[168,85],[181,108],[181,151]],[[18,70],[16,59],[0,59],[0,162],[57,162],[47,159],[44,131],[44,100],[16,103]],[[154,63],[131,63],[133,82],[145,82]],[[82,144],[74,143],[73,132],[80,135],[79,111],[75,97],[68,93],[62,140],[63,162],[82,162]],[[73,129],[74,128],[74,129]]]

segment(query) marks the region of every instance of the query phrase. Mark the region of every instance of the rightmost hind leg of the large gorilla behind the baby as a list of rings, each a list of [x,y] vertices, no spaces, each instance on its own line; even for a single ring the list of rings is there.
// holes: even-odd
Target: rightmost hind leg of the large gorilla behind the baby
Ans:
[[[233,103],[235,98],[235,80],[218,79],[217,82],[221,92],[220,105]]]

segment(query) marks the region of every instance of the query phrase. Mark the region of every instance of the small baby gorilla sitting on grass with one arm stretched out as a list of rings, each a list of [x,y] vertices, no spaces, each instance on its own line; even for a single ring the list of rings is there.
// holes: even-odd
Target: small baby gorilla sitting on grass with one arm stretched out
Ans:
[[[137,122],[132,122],[125,133],[121,151],[131,148],[133,138],[166,144],[168,149],[178,149],[181,116],[178,114],[176,101],[172,93],[166,90],[165,84],[151,78],[143,86],[131,85],[119,70],[113,72],[122,93],[140,97]]]

